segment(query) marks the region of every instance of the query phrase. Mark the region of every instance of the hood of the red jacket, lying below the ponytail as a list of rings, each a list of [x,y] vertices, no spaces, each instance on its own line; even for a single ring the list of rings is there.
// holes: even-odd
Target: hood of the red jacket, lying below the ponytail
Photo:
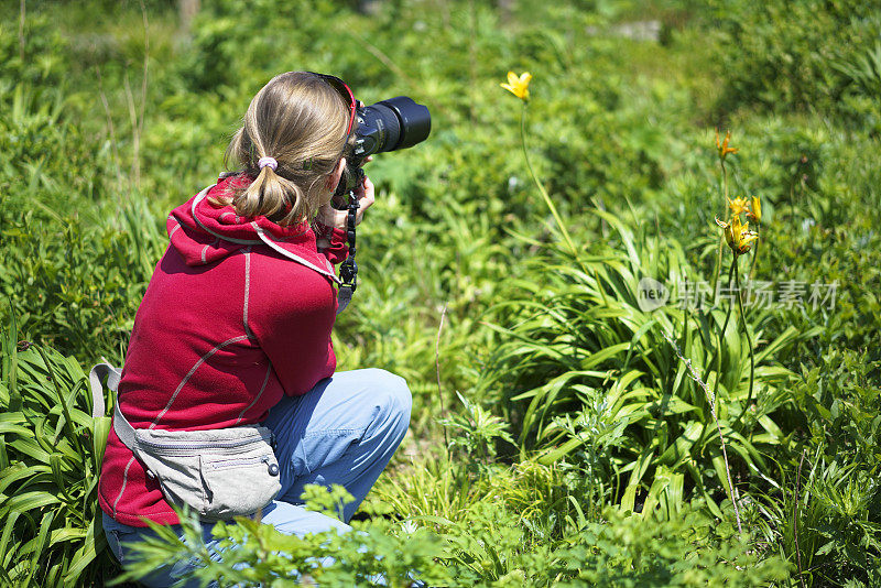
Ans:
[[[267,246],[292,262],[339,282],[334,266],[318,253],[315,232],[308,222],[282,227],[267,217],[240,217],[231,206],[217,207],[208,202],[230,189],[247,186],[244,174],[221,176],[188,202],[172,210],[166,227],[172,247],[191,266],[206,265],[247,247]]]

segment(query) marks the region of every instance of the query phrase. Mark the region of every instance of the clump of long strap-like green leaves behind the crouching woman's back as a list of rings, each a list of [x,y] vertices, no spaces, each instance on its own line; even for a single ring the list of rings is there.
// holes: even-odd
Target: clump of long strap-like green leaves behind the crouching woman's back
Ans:
[[[91,417],[79,363],[2,334],[0,579],[85,586],[116,571],[97,486],[110,418]],[[19,350],[21,346],[22,350]]]

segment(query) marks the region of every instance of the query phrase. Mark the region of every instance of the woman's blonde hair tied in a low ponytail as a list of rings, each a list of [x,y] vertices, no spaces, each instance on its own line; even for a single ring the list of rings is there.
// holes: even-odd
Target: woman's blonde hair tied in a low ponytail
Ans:
[[[251,100],[224,156],[227,168],[238,162],[255,179],[211,203],[232,204],[239,216],[262,215],[279,225],[312,220],[324,179],[355,134],[346,137],[349,112],[342,96],[315,74],[275,76]],[[259,168],[261,157],[273,157],[278,167]]]

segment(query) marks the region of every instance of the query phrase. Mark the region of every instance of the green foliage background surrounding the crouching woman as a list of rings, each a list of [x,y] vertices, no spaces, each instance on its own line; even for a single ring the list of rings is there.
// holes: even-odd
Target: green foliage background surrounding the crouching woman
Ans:
[[[432,111],[428,141],[369,166],[361,285],[335,330],[340,369],[407,379],[412,436],[365,534],[218,530],[259,574],[239,580],[327,553],[326,581],[348,584],[881,585],[881,10],[217,0],[184,31],[171,0],[17,4],[0,7],[0,581],[119,573],[83,367],[122,362],[163,219],[216,178],[253,94],[309,69]],[[577,254],[526,172],[509,69],[533,74],[529,154]],[[725,304],[638,304],[642,276],[711,280],[715,127],[740,149],[732,196],[762,199],[755,277],[837,284],[830,307],[750,309],[749,339],[736,318],[717,338]],[[683,358],[717,390],[742,535]],[[328,497],[316,508],[345,498]]]

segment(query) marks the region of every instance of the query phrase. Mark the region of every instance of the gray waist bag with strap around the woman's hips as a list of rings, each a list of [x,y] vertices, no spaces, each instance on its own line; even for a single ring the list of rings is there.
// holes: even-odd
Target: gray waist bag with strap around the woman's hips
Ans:
[[[94,413],[104,415],[101,381],[117,392],[121,372],[99,363],[89,372]],[[246,425],[214,431],[133,428],[116,399],[113,431],[154,478],[165,500],[189,507],[205,521],[250,516],[281,491],[279,460],[267,427]]]

